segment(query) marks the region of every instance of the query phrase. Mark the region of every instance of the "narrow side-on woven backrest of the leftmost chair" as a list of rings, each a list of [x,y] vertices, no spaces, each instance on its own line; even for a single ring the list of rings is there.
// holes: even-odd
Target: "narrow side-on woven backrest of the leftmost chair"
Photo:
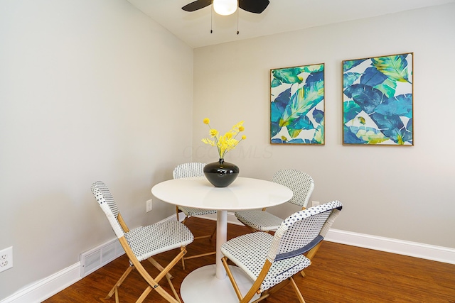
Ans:
[[[92,184],[92,193],[95,195],[95,199],[97,199],[101,209],[105,212],[115,235],[117,238],[122,238],[124,236],[124,230],[118,220],[119,209],[106,184],[102,181],[94,182]]]

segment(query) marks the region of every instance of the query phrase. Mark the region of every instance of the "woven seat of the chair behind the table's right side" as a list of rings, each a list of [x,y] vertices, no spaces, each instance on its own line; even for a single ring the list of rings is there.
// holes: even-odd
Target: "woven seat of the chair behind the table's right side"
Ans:
[[[283,221],[278,216],[259,209],[236,211],[235,216],[240,222],[257,231],[276,231]]]

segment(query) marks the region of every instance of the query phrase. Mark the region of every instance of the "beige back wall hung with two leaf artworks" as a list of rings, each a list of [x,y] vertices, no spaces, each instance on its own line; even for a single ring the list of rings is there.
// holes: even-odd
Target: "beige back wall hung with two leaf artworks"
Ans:
[[[247,141],[226,161],[243,177],[281,168],[316,182],[312,199],[341,200],[334,228],[455,248],[455,5],[309,28],[205,48],[194,54],[194,160],[213,162],[203,118],[228,131],[245,120]],[[414,52],[414,147],[343,146],[342,60]],[[325,63],[326,145],[269,144],[269,70]],[[291,207],[272,212],[285,217]]]

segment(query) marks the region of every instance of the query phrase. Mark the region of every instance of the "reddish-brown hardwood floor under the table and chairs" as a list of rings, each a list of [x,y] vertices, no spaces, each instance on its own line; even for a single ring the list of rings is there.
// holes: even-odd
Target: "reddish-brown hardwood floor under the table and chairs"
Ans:
[[[205,234],[215,227],[215,221],[191,218],[187,223],[195,236]],[[228,239],[247,233],[243,226],[229,225]],[[213,250],[215,239],[201,239],[188,246],[188,255]],[[177,250],[156,256],[162,264],[167,264]],[[177,291],[181,282],[192,270],[215,263],[215,256],[186,260],[186,270],[178,263],[171,274]],[[148,262],[144,265],[152,276],[158,271]],[[128,266],[126,255],[117,258],[105,267],[88,275],[62,292],[45,300],[45,303],[66,302],[109,302],[105,299],[112,285],[117,282]],[[384,253],[377,250],[357,248],[338,243],[324,242],[305,270],[306,277],[296,275],[295,280],[306,303],[333,302],[428,302],[455,303],[455,265],[430,260]],[[171,292],[166,280],[161,285]],[[133,272],[119,288],[120,302],[136,302],[146,283],[139,274]],[[201,294],[203,298],[203,294]],[[156,292],[151,292],[144,302],[166,302]],[[264,303],[299,302],[291,285],[262,301]],[[203,301],[201,300],[201,303]],[[210,302],[211,303],[211,302]]]

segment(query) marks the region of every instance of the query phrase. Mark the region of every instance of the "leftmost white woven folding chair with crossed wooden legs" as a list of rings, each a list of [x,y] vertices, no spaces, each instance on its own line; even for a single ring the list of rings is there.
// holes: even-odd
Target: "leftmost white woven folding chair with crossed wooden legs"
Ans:
[[[112,287],[112,290],[107,294],[106,299],[112,297],[115,293],[115,302],[119,303],[118,288],[122,285],[122,282],[127,278],[129,272],[134,268],[137,269],[141,277],[147,282],[148,287],[141,294],[137,302],[143,302],[151,290],[156,290],[161,297],[164,297],[168,302],[177,303],[181,300],[171,282],[171,275],[168,273],[180,259],[186,254],[186,246],[193,242],[193,233],[178,221],[165,221],[163,223],[152,224],[149,226],[143,226],[129,230],[127,224],[125,224],[122,215],[119,213],[117,204],[109,192],[107,186],[97,181],[92,184],[92,192],[97,199],[101,209],[105,212],[107,220],[112,226],[115,235],[120,241],[122,248],[125,250],[129,258],[129,267],[125,270],[124,274],[117,283]],[[175,248],[180,248],[180,253],[163,268],[154,258],[153,255],[164,253]],[[149,260],[159,271],[159,275],[155,278],[149,275],[149,272],[141,265],[141,261]],[[164,290],[159,281],[166,277],[171,290],[175,296],[175,299]]]

